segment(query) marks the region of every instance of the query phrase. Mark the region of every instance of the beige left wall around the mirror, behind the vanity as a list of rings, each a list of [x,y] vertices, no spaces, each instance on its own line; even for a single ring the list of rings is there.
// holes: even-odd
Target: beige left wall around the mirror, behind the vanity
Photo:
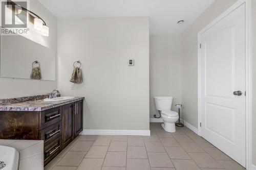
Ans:
[[[50,36],[44,37],[38,33],[27,37],[57,52],[57,18],[37,0],[30,1],[29,5],[31,11],[46,21],[50,28]],[[0,78],[0,99],[45,94],[55,88],[57,81]]]

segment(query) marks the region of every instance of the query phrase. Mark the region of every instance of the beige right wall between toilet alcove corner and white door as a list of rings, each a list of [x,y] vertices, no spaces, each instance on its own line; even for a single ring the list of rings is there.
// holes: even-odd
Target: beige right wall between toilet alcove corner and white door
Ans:
[[[237,0],[216,0],[190,25],[181,37],[181,84],[182,116],[194,127],[198,127],[198,32],[217,18]]]

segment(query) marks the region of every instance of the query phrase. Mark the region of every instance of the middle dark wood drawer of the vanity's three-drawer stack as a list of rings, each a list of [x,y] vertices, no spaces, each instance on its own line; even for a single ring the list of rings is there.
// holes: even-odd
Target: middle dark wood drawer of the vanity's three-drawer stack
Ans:
[[[45,145],[47,145],[57,137],[61,136],[61,121],[41,130],[40,133],[41,140],[44,140]]]

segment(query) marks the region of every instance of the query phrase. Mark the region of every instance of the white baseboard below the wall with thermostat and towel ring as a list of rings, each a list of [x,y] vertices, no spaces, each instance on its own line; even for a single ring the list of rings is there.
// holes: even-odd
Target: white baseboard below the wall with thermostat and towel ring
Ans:
[[[80,135],[137,135],[150,136],[150,130],[94,130],[84,129]]]

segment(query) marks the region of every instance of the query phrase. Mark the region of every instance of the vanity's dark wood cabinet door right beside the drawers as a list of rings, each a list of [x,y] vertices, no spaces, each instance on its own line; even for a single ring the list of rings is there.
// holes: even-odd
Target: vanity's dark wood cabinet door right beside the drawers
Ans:
[[[74,103],[62,106],[62,147],[66,147],[74,138]]]

